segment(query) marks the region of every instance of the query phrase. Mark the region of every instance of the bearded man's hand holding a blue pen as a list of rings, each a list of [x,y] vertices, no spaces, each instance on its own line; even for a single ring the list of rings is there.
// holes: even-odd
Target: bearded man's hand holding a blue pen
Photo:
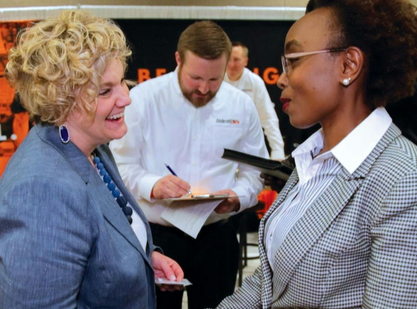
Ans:
[[[181,197],[188,194],[190,184],[174,175],[167,175],[159,179],[152,188],[151,197],[166,199],[169,197]]]

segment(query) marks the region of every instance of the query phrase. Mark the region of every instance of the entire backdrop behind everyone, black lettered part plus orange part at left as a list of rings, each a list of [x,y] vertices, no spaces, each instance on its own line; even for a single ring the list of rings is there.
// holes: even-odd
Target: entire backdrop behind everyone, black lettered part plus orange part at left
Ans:
[[[129,64],[127,78],[141,82],[173,71],[176,67],[174,53],[178,38],[181,32],[194,21],[116,20],[133,47],[133,57]],[[266,84],[271,100],[275,103],[279,127],[284,137],[285,153],[290,154],[297,144],[303,142],[319,128],[319,125],[305,130],[292,127],[288,116],[282,112],[279,102],[281,90],[276,86],[276,81],[282,72],[280,58],[284,52],[286,33],[293,22],[215,21],[223,27],[232,41],[240,41],[248,46],[248,68],[261,76]],[[14,100],[14,90],[8,86],[4,77],[7,52],[13,46],[18,30],[26,25],[28,25],[28,21],[0,22],[0,175],[8,158],[29,130],[28,115]],[[417,143],[417,122],[414,119],[417,115],[417,94],[407,97],[401,102],[392,103],[387,107],[387,110],[403,134]]]

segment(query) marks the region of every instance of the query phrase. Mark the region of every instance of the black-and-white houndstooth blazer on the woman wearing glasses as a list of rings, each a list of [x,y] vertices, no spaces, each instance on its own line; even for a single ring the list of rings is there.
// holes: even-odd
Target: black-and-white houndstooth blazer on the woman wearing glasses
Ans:
[[[261,220],[261,265],[218,308],[417,308],[417,146],[392,124],[296,222],[272,273],[264,226],[297,182],[294,171]]]

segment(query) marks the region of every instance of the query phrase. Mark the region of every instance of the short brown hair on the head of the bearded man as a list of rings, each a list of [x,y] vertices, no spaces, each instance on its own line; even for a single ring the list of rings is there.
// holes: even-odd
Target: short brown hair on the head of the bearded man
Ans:
[[[229,60],[232,46],[226,32],[219,25],[211,20],[203,20],[194,22],[181,33],[177,45],[181,61],[184,61],[187,50],[208,60],[217,59],[226,52]]]

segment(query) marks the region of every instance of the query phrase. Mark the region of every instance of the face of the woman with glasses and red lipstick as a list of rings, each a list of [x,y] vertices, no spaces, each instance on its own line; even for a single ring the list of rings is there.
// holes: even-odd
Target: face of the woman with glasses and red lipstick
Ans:
[[[337,30],[332,26],[332,10],[320,8],[301,17],[290,28],[285,54],[339,48],[330,46]],[[338,56],[343,52],[322,52],[289,60],[288,75],[281,74],[281,103],[291,125],[307,128],[335,117],[338,112]]]

